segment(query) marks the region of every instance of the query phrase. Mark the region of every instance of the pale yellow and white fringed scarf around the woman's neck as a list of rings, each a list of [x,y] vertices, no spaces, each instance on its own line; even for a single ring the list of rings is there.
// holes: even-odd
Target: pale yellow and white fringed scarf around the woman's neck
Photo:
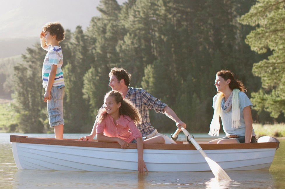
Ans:
[[[238,128],[240,127],[240,107],[239,107],[239,102],[238,102],[238,93],[240,92],[239,89],[234,89],[228,98],[228,100],[225,102],[225,105],[223,107],[223,111],[230,111],[232,108],[232,128]],[[209,135],[211,136],[219,136],[220,132],[220,113],[221,113],[221,102],[222,99],[224,98],[223,93],[219,93],[216,103],[215,103],[215,108],[214,108],[214,115],[212,122],[210,124],[210,132]]]

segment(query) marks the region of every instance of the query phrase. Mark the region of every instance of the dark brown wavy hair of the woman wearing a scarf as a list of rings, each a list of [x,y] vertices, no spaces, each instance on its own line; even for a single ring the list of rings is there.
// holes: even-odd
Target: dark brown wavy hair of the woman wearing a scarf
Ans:
[[[231,82],[229,84],[229,87],[231,90],[239,89],[241,92],[247,91],[243,83],[233,77],[233,72],[231,72],[230,70],[220,70],[217,72],[217,76],[221,76],[222,78],[224,78],[224,80],[230,79]]]

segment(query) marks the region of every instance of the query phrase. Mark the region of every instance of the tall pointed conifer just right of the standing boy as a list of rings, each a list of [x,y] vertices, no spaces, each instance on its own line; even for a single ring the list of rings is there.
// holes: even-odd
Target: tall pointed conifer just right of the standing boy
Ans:
[[[64,132],[82,132],[82,127],[90,124],[89,105],[83,98],[83,77],[90,68],[90,55],[87,36],[81,26],[76,27],[70,39],[70,56],[64,59],[66,66],[63,69],[65,89],[64,103]],[[64,52],[64,51],[63,51]]]

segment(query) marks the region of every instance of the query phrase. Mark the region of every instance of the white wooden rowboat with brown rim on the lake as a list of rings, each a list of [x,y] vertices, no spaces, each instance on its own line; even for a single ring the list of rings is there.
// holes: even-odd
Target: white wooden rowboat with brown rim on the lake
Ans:
[[[118,143],[56,140],[10,135],[18,169],[60,171],[137,171],[136,143],[122,149]],[[225,171],[269,169],[279,141],[263,136],[258,143],[208,144],[200,147]],[[206,160],[193,144],[144,144],[144,161],[148,171],[210,171]]]

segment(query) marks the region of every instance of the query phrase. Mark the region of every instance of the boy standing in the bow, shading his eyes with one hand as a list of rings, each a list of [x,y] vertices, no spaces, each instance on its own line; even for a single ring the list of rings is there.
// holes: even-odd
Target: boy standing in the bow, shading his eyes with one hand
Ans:
[[[64,40],[65,31],[59,22],[45,24],[40,34],[41,46],[47,50],[43,62],[43,87],[45,95],[43,100],[47,102],[47,116],[50,127],[54,128],[55,139],[63,138],[63,96],[64,79],[61,66],[63,56],[59,42]]]

